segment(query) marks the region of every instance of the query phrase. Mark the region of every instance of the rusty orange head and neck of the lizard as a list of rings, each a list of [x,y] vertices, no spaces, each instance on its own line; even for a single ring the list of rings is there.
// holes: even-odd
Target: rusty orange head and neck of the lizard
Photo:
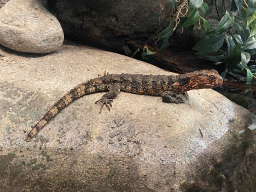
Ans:
[[[223,79],[216,70],[201,70],[177,76],[173,89],[184,93],[192,89],[215,88],[222,85]]]

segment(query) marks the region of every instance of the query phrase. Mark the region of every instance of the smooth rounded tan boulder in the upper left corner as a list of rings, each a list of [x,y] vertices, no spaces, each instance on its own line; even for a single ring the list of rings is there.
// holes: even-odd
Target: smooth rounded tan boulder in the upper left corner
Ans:
[[[39,0],[10,0],[0,9],[0,44],[12,50],[50,53],[63,40],[60,23]]]

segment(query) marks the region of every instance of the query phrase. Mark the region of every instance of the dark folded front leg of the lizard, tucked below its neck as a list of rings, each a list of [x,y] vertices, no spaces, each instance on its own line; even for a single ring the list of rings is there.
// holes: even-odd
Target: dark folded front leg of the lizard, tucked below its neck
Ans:
[[[175,93],[175,91],[165,91],[161,94],[162,101],[165,103],[184,103],[188,100],[188,94]]]

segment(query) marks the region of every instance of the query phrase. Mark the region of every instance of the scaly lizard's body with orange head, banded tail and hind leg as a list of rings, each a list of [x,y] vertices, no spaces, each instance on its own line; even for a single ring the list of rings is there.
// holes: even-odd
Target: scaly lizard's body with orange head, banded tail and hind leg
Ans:
[[[74,100],[88,94],[107,92],[96,103],[101,104],[100,113],[105,105],[108,110],[120,91],[160,96],[166,91],[185,94],[192,89],[215,88],[223,83],[216,70],[201,70],[182,75],[141,75],[141,74],[107,74],[79,84],[57,103],[32,127],[26,141],[30,141],[54,116]]]

